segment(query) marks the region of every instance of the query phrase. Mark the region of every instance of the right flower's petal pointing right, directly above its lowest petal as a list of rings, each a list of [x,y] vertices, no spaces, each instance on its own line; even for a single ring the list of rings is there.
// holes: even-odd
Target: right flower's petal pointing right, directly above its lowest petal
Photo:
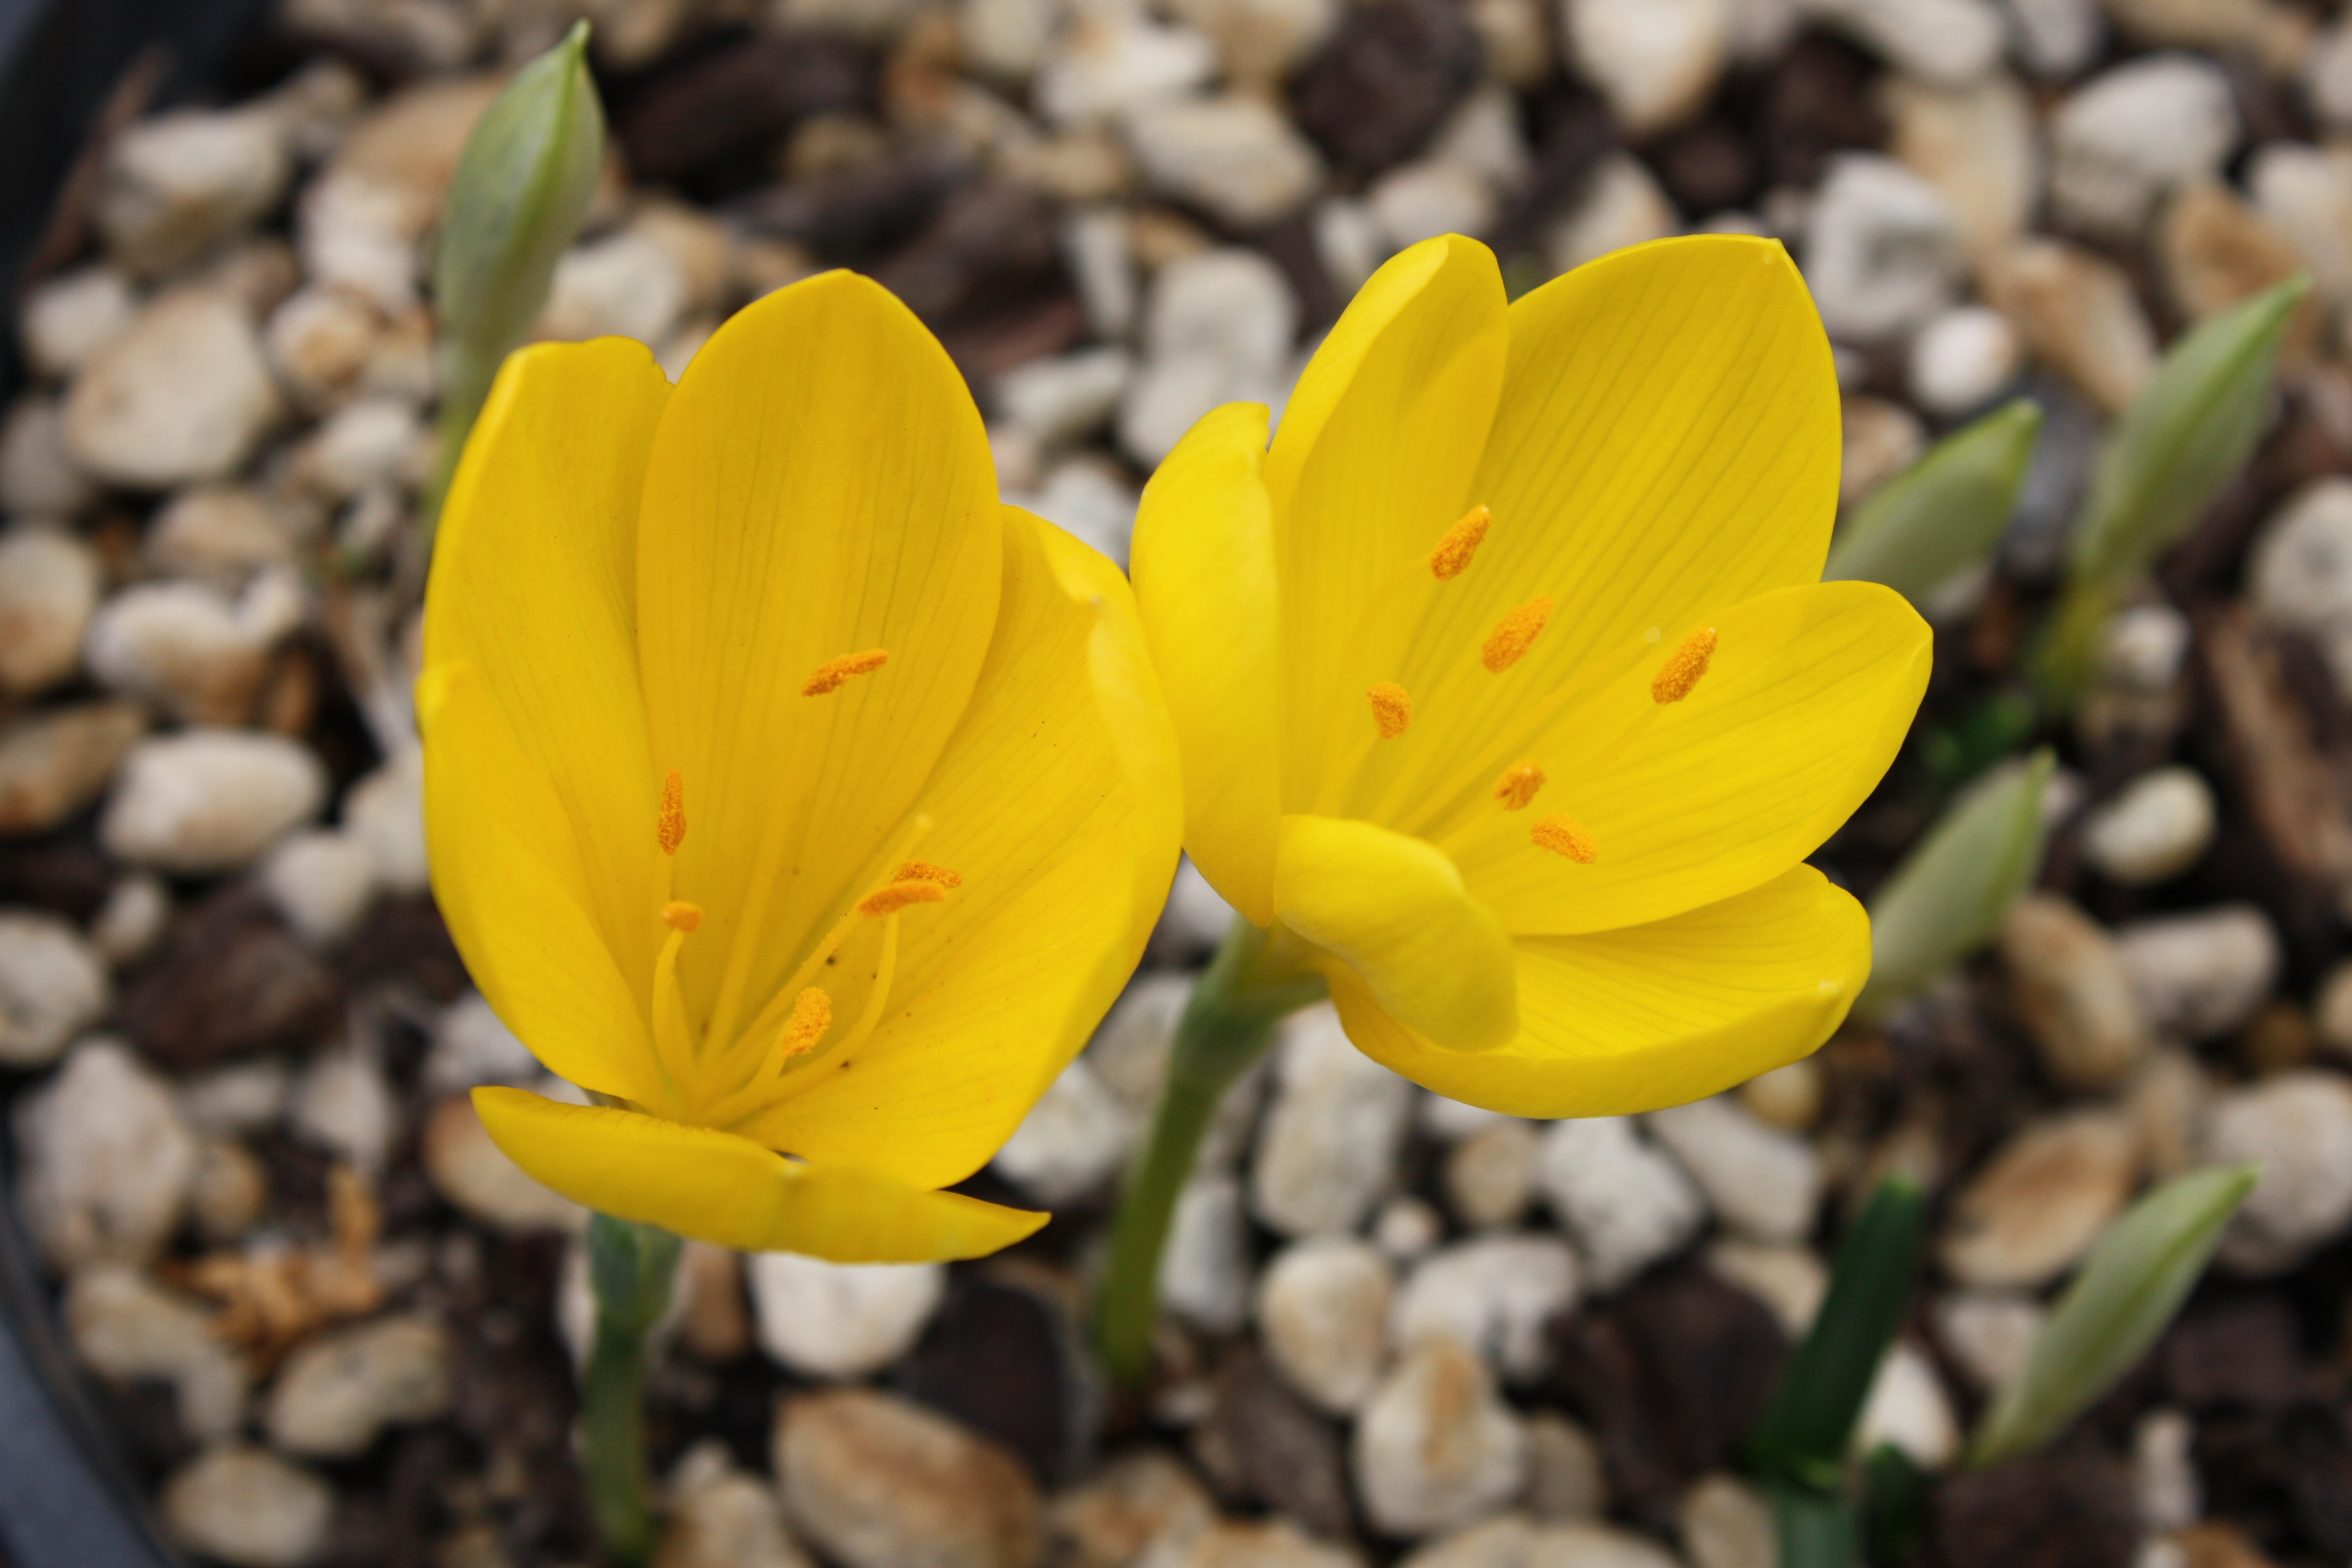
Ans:
[[[1783,588],[1705,621],[1708,672],[1679,703],[1651,677],[1693,625],[1534,738],[1491,741],[1501,764],[1534,757],[1548,783],[1524,816],[1559,811],[1590,835],[1576,865],[1529,842],[1472,776],[1446,839],[1463,882],[1512,936],[1606,931],[1696,910],[1778,877],[1853,816],[1893,764],[1926,691],[1931,635],[1877,583]],[[1439,835],[1444,839],[1444,835]]]

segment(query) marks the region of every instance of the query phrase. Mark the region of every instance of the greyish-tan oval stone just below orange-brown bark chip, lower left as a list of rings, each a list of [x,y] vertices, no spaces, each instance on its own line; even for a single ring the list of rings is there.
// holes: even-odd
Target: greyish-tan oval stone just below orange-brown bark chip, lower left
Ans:
[[[386,1427],[447,1415],[454,1399],[449,1331],[402,1312],[303,1340],[280,1368],[263,1420],[282,1453],[350,1460]]]

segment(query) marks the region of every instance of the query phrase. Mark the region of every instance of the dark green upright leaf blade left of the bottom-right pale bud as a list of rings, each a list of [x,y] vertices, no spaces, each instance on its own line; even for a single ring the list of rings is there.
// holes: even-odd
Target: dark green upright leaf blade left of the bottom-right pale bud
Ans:
[[[1823,1493],[1842,1486],[1853,1422],[1910,1312],[1924,1244],[1926,1194],[1889,1175],[1837,1248],[1830,1293],[1748,1441],[1759,1472]]]

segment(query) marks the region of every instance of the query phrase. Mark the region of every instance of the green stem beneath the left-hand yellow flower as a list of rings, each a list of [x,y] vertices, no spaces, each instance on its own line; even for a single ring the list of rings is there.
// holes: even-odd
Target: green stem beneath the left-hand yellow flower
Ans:
[[[670,1309],[680,1239],[654,1225],[588,1218],[595,1345],[581,1387],[588,1429],[588,1507],[604,1556],[637,1568],[654,1556],[654,1493],[644,1469],[644,1340]]]

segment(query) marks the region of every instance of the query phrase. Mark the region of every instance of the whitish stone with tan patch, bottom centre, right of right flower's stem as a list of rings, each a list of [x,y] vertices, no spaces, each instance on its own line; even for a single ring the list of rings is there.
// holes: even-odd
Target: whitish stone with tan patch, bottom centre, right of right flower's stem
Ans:
[[[1526,1432],[1470,1349],[1421,1340],[1374,1392],[1348,1450],[1364,1514],[1383,1535],[1465,1526],[1526,1486]]]

